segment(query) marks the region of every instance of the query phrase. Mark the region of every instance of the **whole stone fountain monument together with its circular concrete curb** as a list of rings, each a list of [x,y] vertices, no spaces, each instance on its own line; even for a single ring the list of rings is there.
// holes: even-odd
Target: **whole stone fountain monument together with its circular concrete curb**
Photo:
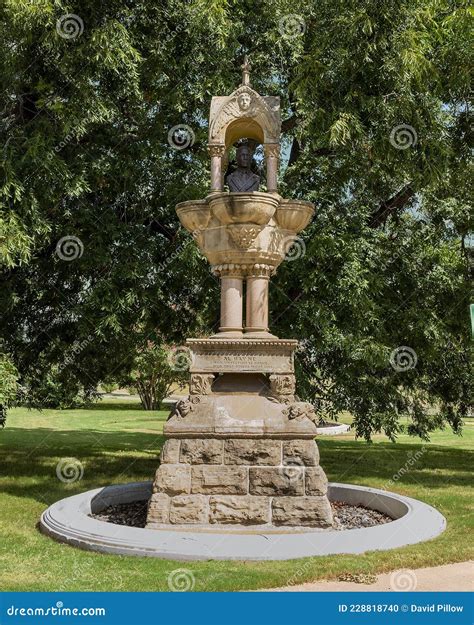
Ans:
[[[297,342],[270,334],[267,312],[270,276],[313,206],[278,194],[279,101],[253,91],[247,63],[243,69],[232,95],[212,99],[212,191],[176,207],[220,277],[221,327],[188,341],[190,394],[165,425],[153,485],[114,484],[56,501],[41,515],[41,531],[82,549],[172,560],[288,560],[431,540],[446,528],[431,506],[364,486],[328,488],[319,466],[314,410],[295,396]],[[250,167],[256,143],[265,148],[265,193]],[[235,144],[238,168],[227,192],[222,172]],[[394,520],[333,529],[328,495]],[[146,499],[146,528],[91,516]]]

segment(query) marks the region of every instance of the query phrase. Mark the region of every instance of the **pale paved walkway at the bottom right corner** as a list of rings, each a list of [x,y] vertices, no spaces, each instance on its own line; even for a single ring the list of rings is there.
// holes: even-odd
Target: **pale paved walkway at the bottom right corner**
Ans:
[[[474,562],[458,562],[425,569],[400,569],[377,576],[373,584],[322,581],[299,586],[272,588],[276,592],[363,592],[363,591],[472,591]]]

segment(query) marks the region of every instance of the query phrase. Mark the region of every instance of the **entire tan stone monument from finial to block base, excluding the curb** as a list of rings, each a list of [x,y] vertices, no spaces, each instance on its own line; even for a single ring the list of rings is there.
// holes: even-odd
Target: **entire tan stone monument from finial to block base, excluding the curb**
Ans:
[[[295,395],[297,341],[268,328],[270,276],[314,206],[278,194],[280,100],[254,91],[247,61],[242,68],[238,89],[211,102],[211,192],[176,207],[220,278],[221,323],[217,334],[187,341],[189,396],[164,427],[149,529],[332,525],[315,412]],[[266,192],[250,171],[248,142],[263,144]],[[228,192],[222,172],[235,144]]]

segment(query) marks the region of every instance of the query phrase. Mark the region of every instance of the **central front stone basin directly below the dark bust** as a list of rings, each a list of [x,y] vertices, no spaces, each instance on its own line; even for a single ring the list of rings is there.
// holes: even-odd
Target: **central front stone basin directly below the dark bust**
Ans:
[[[215,193],[207,198],[211,212],[221,224],[268,224],[280,197],[270,193]]]

